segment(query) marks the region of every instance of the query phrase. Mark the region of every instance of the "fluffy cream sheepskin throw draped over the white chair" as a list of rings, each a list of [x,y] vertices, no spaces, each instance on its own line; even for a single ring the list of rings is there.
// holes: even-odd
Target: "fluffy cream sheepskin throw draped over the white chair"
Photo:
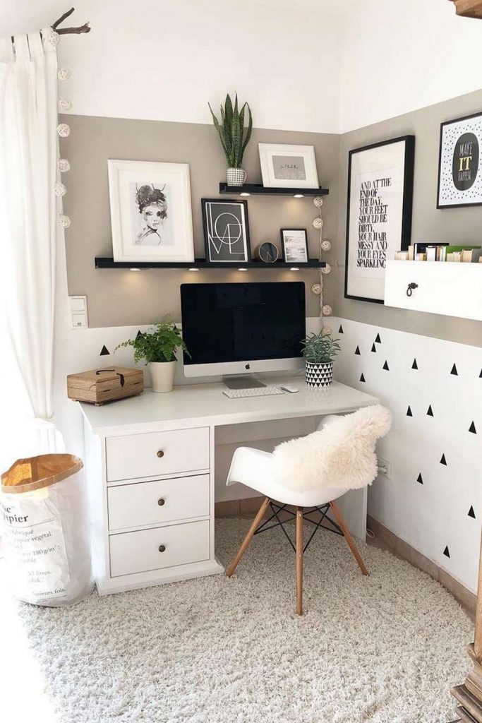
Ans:
[[[283,442],[272,455],[275,479],[289,489],[358,489],[377,474],[375,442],[387,434],[392,415],[380,405],[330,420],[324,429]]]

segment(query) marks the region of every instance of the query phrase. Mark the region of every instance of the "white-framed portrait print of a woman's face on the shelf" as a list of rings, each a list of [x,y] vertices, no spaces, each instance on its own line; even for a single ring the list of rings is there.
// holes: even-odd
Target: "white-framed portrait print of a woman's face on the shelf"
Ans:
[[[114,261],[194,261],[187,163],[108,161]]]

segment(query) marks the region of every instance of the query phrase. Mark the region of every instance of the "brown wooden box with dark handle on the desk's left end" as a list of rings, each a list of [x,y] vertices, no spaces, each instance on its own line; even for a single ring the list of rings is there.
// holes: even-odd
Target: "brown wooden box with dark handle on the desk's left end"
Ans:
[[[144,391],[144,373],[139,369],[107,367],[90,372],[69,374],[67,395],[69,399],[92,404],[105,404],[133,397]]]

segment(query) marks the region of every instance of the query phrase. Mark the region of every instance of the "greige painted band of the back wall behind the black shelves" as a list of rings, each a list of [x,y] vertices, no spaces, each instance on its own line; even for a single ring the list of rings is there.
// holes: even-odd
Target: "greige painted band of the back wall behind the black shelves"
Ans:
[[[218,184],[225,180],[225,158],[214,127],[202,124],[139,121],[93,116],[65,116],[71,127],[61,140],[61,155],[72,170],[64,176],[67,194],[64,211],[72,218],[66,231],[69,294],[86,294],[91,327],[146,324],[168,313],[180,319],[179,285],[199,281],[300,280],[306,283],[307,316],[319,315],[318,297],[311,284],[318,273],[255,270],[95,270],[95,256],[112,256],[111,216],[108,197],[108,158],[131,161],[173,161],[189,163],[194,226],[194,252],[204,257],[201,198],[218,197]],[[255,129],[246,150],[244,167],[248,180],[261,181],[258,142],[314,145],[320,184],[330,188],[323,206],[324,236],[337,232],[340,136]],[[318,235],[311,226],[316,209],[311,199],[257,197],[248,199],[251,251],[261,241],[280,246],[280,228],[308,229],[311,255],[318,256]],[[327,260],[330,260],[327,256]]]

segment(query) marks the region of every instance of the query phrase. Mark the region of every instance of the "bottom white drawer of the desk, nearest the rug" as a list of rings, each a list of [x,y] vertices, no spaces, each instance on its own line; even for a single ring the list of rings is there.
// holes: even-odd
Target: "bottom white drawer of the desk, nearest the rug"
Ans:
[[[210,557],[210,523],[186,522],[111,535],[109,549],[113,578],[202,562]]]

